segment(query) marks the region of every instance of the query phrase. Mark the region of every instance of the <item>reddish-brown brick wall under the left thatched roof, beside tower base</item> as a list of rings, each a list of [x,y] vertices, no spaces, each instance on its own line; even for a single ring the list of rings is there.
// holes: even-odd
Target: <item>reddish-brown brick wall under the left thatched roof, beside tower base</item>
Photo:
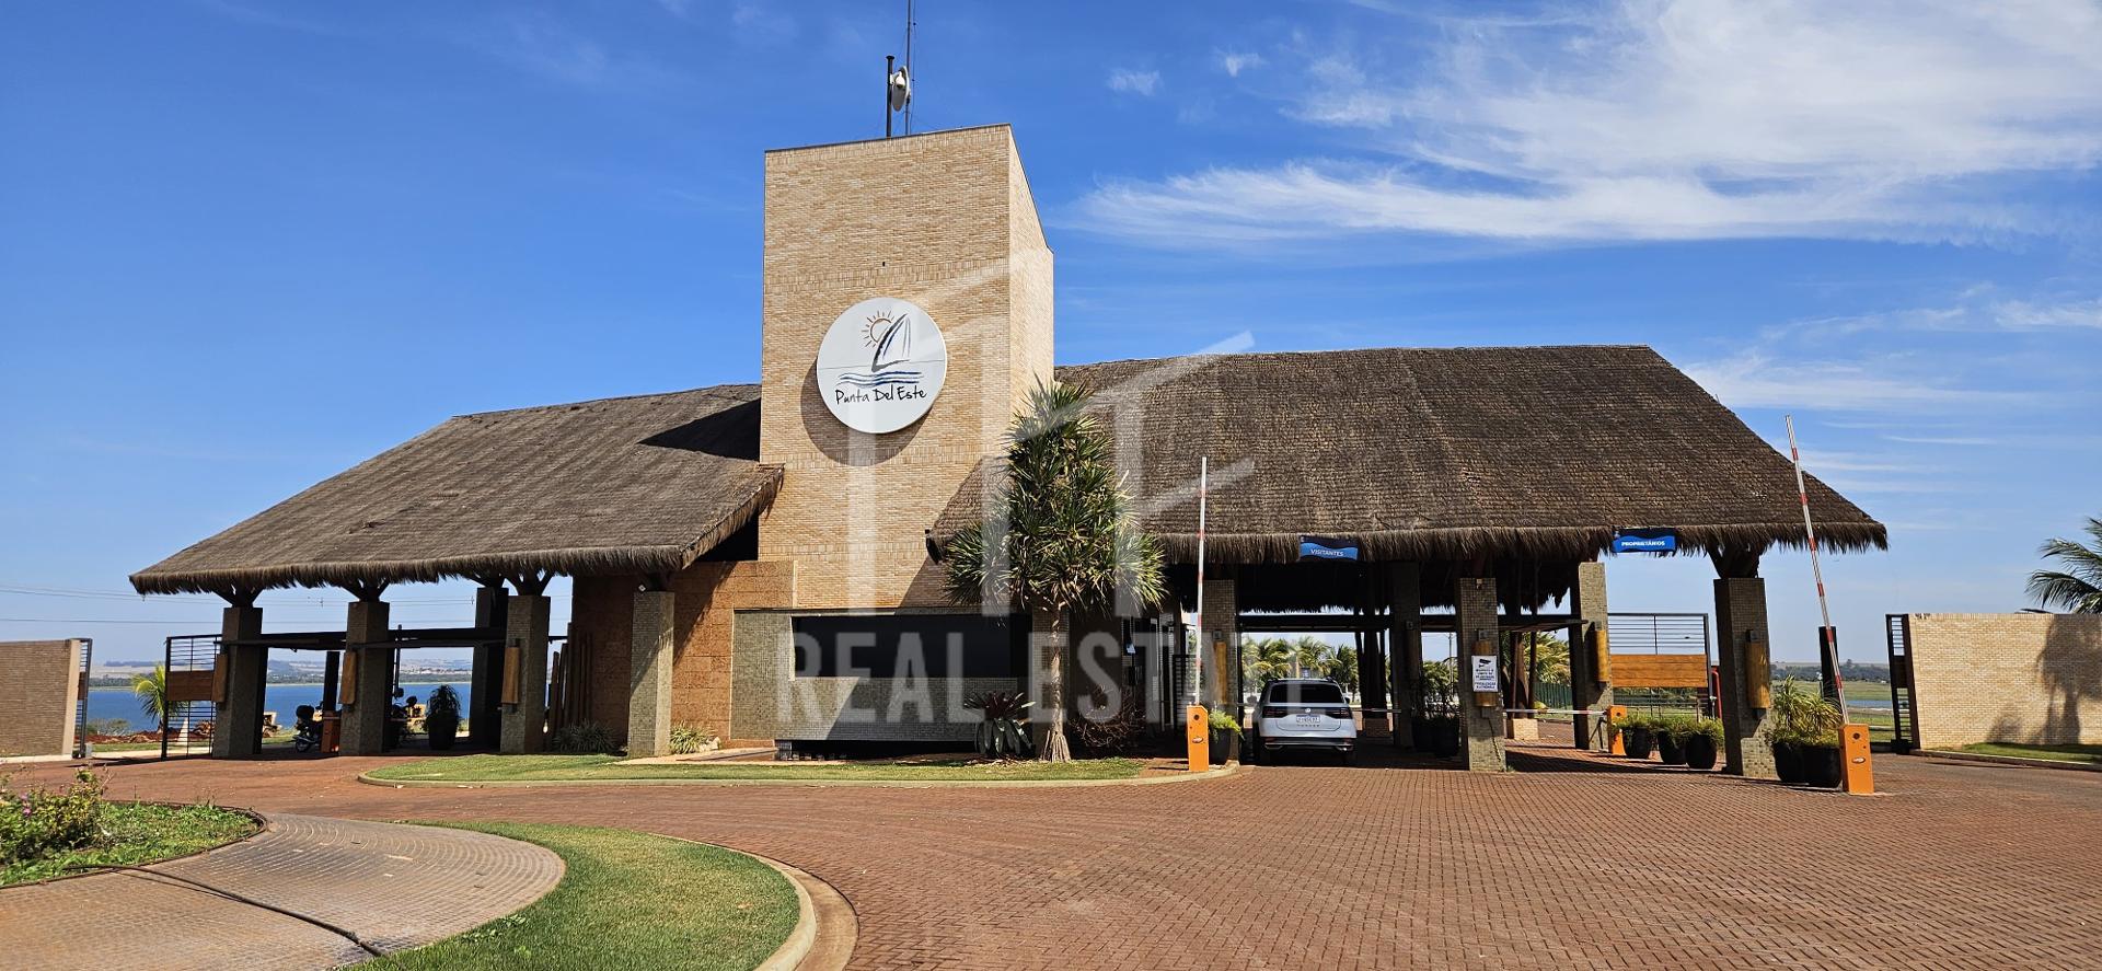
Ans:
[[[795,580],[797,565],[784,561],[700,561],[673,576],[673,727],[694,725],[729,748],[774,744],[774,736],[731,731],[734,618],[744,607],[795,605]],[[593,664],[591,717],[614,731],[628,723],[626,645],[639,584],[635,576],[580,576],[570,607],[572,633],[610,645]],[[618,664],[605,656],[616,656]]]

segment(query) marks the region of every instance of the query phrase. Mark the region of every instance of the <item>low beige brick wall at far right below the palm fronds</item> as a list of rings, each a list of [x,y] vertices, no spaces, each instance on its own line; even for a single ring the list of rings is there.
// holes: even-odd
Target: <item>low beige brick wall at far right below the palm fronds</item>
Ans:
[[[2102,616],[1911,614],[1919,740],[2102,744]]]

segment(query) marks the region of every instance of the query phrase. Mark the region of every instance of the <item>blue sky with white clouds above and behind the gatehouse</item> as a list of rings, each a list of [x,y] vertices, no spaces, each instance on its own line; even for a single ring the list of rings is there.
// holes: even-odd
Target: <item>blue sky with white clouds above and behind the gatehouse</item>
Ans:
[[[124,576],[446,416],[750,380],[761,151],[881,132],[902,6],[6,6],[0,639],[210,631]],[[1059,361],[1654,345],[1890,523],[1827,561],[1860,658],[1885,612],[2028,605],[2102,515],[2094,2],[919,21],[914,126],[1015,126]],[[1709,610],[1701,559],[1608,570]],[[1808,559],[1766,576],[1810,658]]]

